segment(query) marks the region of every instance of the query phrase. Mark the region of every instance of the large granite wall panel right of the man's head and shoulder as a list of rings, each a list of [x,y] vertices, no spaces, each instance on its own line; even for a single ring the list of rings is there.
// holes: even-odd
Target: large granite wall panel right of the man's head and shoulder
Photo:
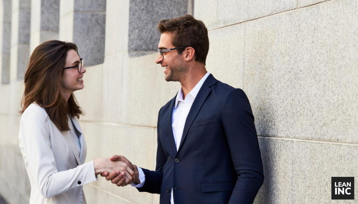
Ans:
[[[245,23],[258,135],[358,143],[357,13],[339,0]]]

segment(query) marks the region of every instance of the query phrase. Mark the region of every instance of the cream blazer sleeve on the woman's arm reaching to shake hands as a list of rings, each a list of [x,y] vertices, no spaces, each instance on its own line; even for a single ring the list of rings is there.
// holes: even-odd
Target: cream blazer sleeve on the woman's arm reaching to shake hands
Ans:
[[[57,170],[49,120],[42,108],[30,106],[21,116],[19,131],[19,146],[28,174],[46,198],[97,180],[93,161],[73,169]]]

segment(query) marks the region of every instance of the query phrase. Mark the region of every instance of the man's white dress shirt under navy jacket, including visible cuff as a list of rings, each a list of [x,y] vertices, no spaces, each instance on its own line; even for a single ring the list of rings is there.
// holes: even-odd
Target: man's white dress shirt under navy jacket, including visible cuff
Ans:
[[[180,88],[178,94],[175,98],[175,106],[173,107],[172,117],[171,117],[171,127],[174,135],[174,141],[176,150],[179,149],[180,143],[183,136],[185,121],[187,120],[191,106],[194,103],[195,97],[202,88],[205,80],[209,77],[209,72],[207,72],[204,77],[195,85],[195,87],[186,95],[183,99],[183,89]],[[138,167],[139,171],[139,180],[140,184],[132,183],[131,186],[141,188],[145,182],[145,175],[143,170]],[[173,189],[171,189],[170,203],[174,204],[173,199]]]

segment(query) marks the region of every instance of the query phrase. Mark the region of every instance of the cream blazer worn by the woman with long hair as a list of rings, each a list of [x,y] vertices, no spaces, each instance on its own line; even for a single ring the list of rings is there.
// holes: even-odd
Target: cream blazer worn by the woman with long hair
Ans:
[[[86,203],[82,185],[97,177],[93,161],[84,163],[86,142],[77,118],[72,120],[80,132],[80,154],[69,131],[59,131],[43,108],[31,104],[21,116],[18,138],[31,184],[30,204]]]

